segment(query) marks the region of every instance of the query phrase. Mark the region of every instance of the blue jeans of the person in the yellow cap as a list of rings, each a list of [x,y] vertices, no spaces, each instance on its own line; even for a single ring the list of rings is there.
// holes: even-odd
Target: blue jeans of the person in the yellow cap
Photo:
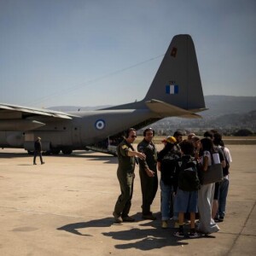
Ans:
[[[161,214],[162,220],[168,220],[172,218],[173,212],[173,186],[166,185],[160,180],[160,189],[161,189]]]

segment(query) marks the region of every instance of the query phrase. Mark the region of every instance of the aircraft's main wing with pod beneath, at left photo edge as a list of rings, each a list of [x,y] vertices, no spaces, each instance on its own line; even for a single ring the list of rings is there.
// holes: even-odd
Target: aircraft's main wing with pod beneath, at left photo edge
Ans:
[[[44,126],[38,117],[73,119],[73,114],[40,108],[26,108],[0,103],[0,131],[29,131]]]

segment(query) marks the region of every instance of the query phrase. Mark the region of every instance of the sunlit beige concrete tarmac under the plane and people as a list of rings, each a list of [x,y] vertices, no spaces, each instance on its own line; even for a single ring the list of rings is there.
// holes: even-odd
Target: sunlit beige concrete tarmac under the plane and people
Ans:
[[[172,220],[161,229],[160,189],[152,205],[157,220],[141,218],[138,167],[130,212],[136,222],[114,224],[116,157],[77,151],[33,166],[24,149],[0,149],[0,255],[255,255],[256,145],[228,148],[233,162],[221,230],[193,239],[173,236]]]

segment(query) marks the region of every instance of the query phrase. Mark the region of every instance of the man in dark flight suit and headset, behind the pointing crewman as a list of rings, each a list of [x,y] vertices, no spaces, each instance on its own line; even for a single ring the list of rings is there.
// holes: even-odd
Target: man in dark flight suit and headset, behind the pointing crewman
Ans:
[[[158,189],[157,150],[152,142],[154,130],[147,128],[143,131],[143,136],[143,141],[137,145],[137,151],[146,155],[145,160],[139,160],[139,173],[143,194],[142,218],[154,220],[156,218],[152,212],[150,212],[150,206],[154,201]]]

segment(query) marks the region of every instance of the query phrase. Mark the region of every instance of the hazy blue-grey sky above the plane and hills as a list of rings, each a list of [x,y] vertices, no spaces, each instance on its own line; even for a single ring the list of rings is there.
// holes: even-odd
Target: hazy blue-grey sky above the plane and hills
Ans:
[[[0,102],[142,100],[184,33],[205,95],[256,96],[255,0],[0,0]]]

